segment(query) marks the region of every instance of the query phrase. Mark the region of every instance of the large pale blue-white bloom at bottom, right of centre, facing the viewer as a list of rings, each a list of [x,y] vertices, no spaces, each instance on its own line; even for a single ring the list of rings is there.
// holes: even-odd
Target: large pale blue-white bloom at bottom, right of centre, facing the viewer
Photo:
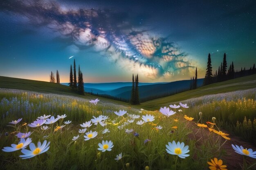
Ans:
[[[175,141],[173,141],[173,143],[168,142],[168,145],[166,145],[166,151],[168,154],[177,155],[178,157],[184,159],[185,157],[189,156],[189,154],[186,154],[189,152],[189,146],[184,145],[184,142],[180,143],[179,141],[177,144]]]

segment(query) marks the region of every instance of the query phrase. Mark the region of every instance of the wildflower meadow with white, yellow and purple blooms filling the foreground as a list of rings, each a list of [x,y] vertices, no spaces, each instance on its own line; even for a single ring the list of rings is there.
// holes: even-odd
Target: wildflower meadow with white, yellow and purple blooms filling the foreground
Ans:
[[[2,92],[0,169],[227,170],[225,156],[234,154],[242,162],[232,169],[254,169],[256,152],[232,143],[221,128],[223,122],[244,126],[245,115],[237,113],[245,106],[253,120],[254,99],[244,101],[178,102],[148,111],[99,99]],[[213,111],[227,106],[236,106],[234,120]]]

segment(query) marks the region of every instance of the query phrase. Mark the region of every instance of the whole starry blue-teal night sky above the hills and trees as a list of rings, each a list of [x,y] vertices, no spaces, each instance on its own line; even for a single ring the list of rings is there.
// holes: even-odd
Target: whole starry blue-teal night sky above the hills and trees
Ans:
[[[256,62],[254,0],[1,0],[0,75],[49,81],[173,82]],[[71,56],[74,56],[70,58]],[[69,59],[70,58],[70,59]],[[76,68],[78,70],[78,68]]]

